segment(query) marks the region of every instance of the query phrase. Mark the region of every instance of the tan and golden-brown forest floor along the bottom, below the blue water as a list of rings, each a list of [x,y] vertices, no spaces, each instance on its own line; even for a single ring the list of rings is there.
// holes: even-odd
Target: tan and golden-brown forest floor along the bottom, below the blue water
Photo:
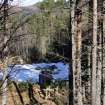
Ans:
[[[34,97],[39,102],[40,105],[69,105],[69,91],[64,87],[59,89],[58,92],[51,92],[50,98],[44,99],[43,95],[40,93],[38,85],[33,87]],[[18,93],[14,86],[8,88],[8,105],[22,105],[19,99]],[[28,97],[28,91],[21,91],[21,95],[25,102],[25,105],[31,105]],[[0,95],[1,100],[1,95]],[[1,105],[1,101],[0,101]]]

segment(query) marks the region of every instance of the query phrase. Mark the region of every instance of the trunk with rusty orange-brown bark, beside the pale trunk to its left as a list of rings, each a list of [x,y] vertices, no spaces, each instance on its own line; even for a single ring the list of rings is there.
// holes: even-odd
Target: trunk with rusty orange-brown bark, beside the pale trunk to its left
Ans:
[[[78,105],[82,105],[82,85],[81,85],[81,13],[77,16],[77,34],[76,34],[76,72],[77,72],[77,92],[78,92]]]

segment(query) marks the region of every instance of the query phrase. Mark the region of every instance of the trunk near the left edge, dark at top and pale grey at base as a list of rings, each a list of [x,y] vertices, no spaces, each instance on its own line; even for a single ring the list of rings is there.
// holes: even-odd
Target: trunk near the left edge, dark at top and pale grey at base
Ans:
[[[3,3],[3,37],[4,37],[4,42],[3,42],[3,47],[4,47],[4,43],[5,41],[7,40],[7,18],[8,18],[8,0],[5,0],[4,3]],[[1,48],[3,49],[3,48]],[[7,47],[3,50],[1,50],[1,59],[3,60],[4,59],[4,50],[6,51],[7,50]],[[7,105],[7,79],[6,79],[6,76],[7,76],[7,69],[4,68],[4,76],[3,76],[3,85],[2,85],[2,89],[3,89],[3,95],[2,95],[2,105]]]

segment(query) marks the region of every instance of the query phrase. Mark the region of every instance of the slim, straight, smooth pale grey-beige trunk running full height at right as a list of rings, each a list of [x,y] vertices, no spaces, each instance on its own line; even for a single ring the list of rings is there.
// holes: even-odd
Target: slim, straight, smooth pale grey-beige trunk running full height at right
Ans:
[[[92,105],[96,105],[97,0],[93,0]]]

